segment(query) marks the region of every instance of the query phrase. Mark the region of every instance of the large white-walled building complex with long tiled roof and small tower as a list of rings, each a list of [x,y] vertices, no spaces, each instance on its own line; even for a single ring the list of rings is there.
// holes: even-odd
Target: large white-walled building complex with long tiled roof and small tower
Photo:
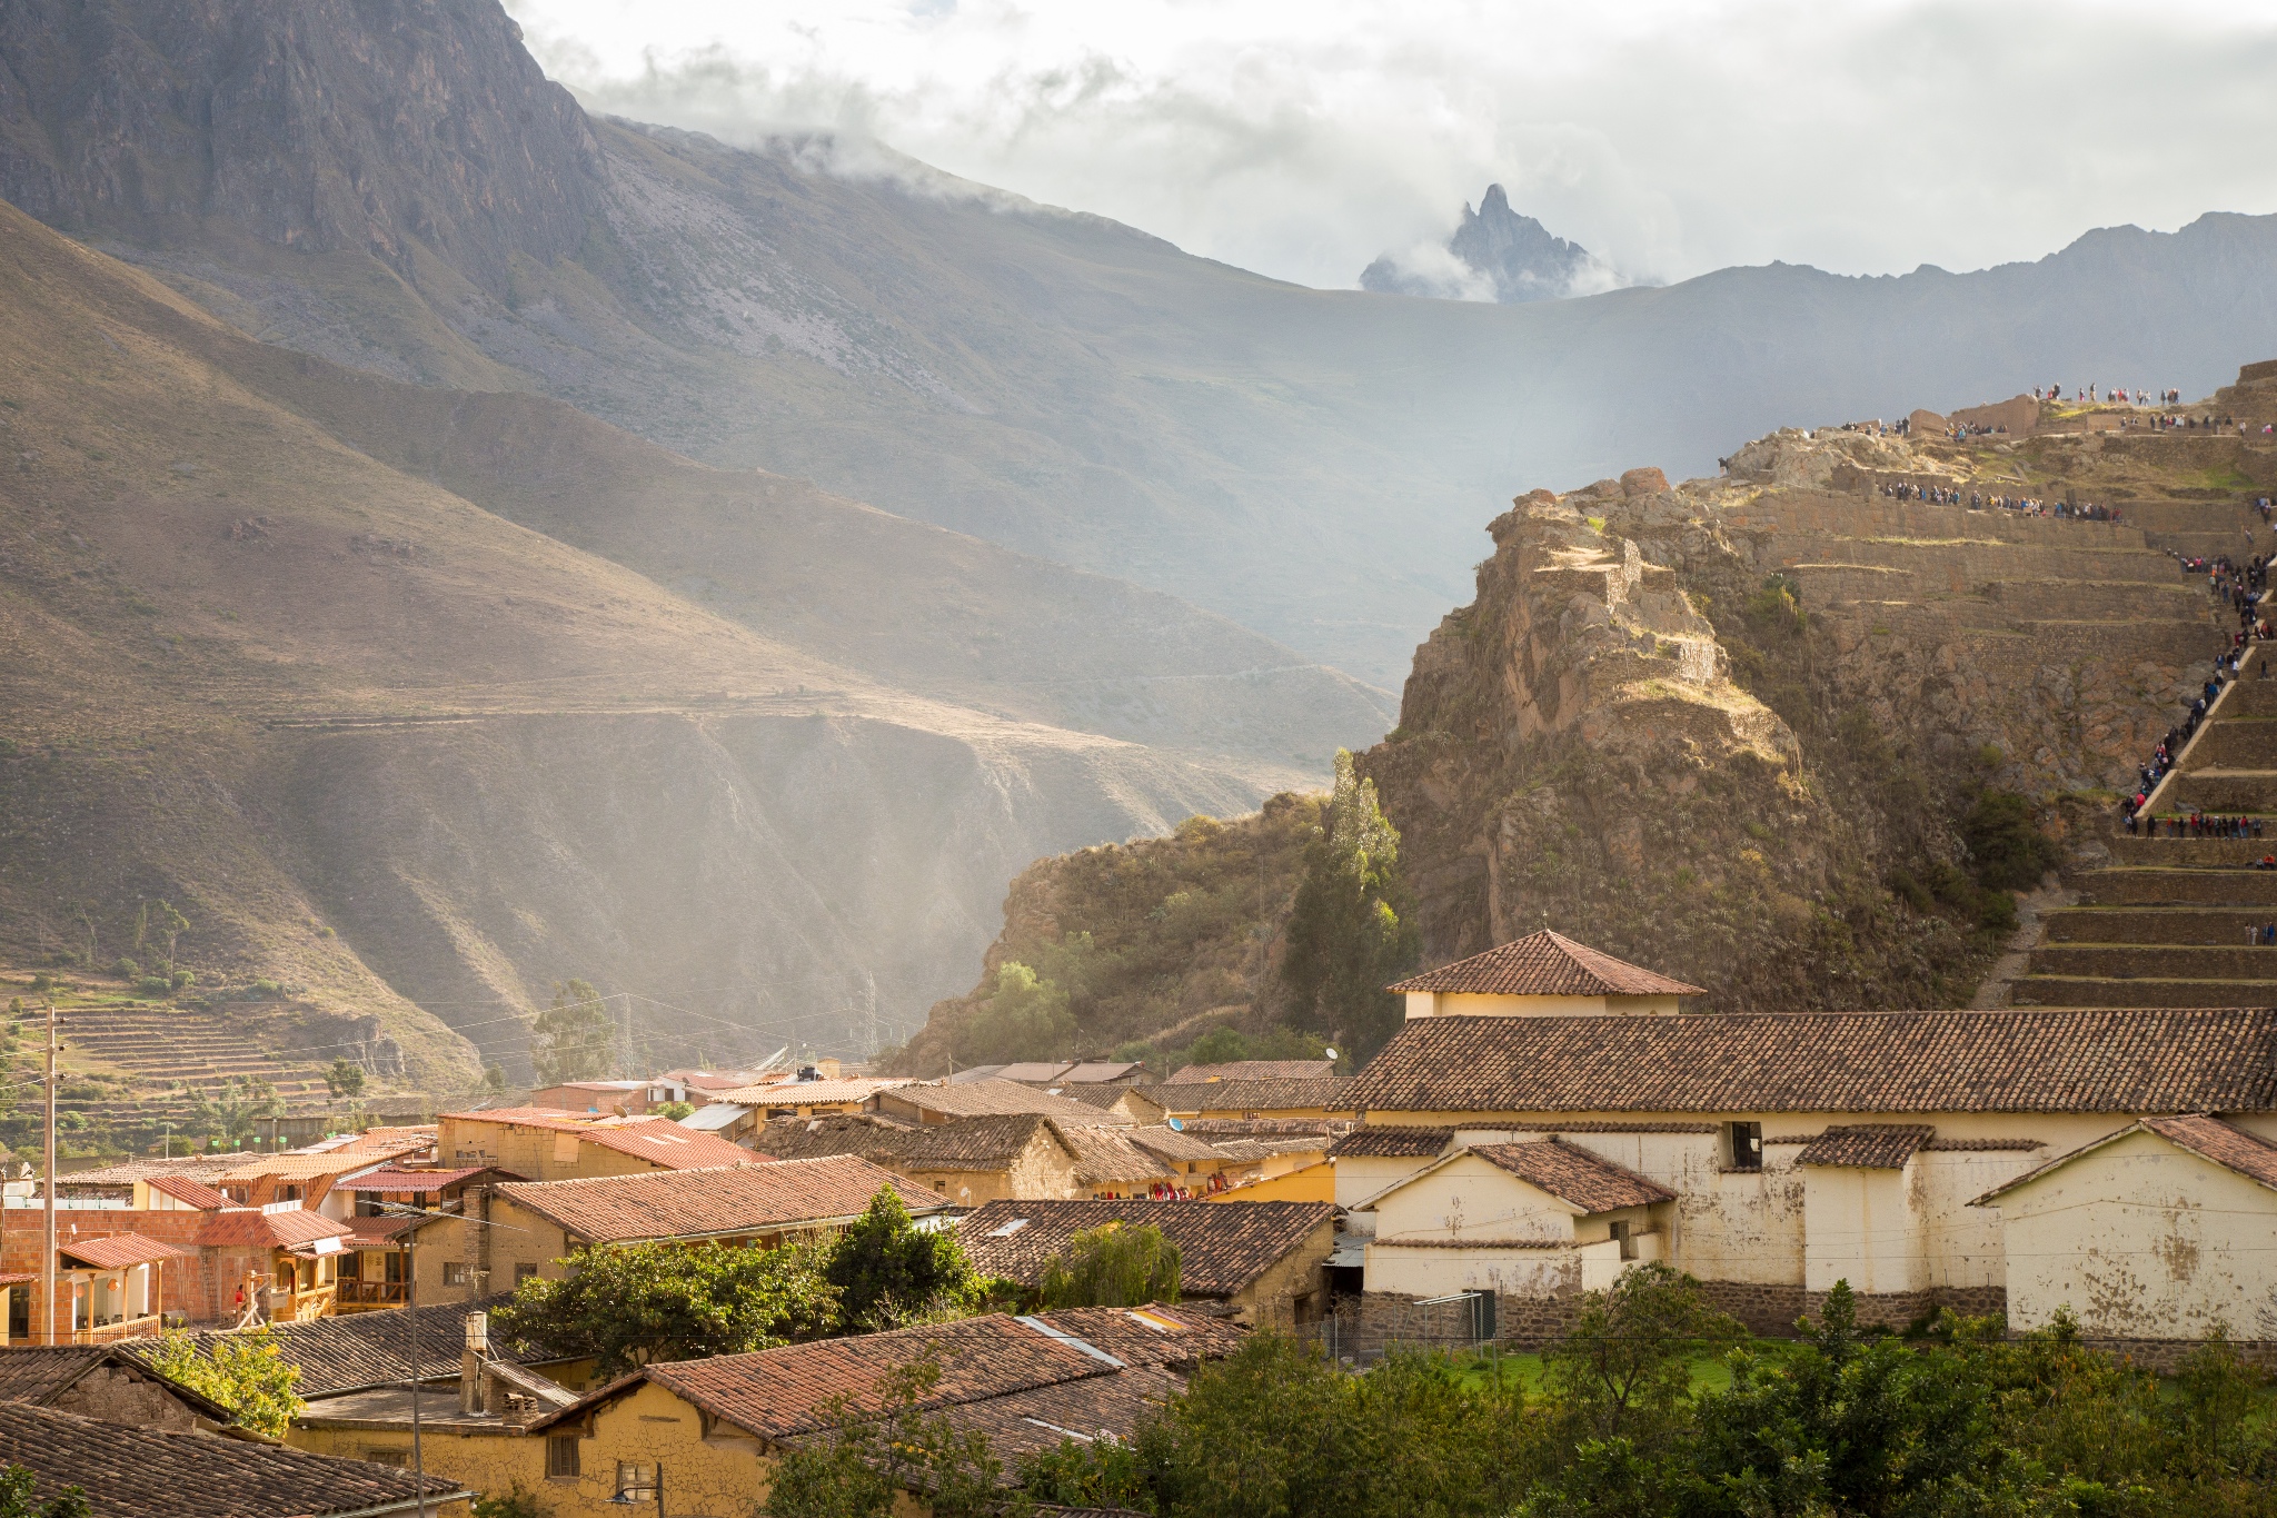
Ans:
[[[1687,1015],[1687,988],[1646,976],[1537,933],[1403,983],[1425,985],[1430,1010],[1412,1001],[1362,1072],[1368,1127],[1337,1145],[1371,1304],[1482,1290],[1505,1325],[1548,1334],[1614,1259],[1664,1259],[1758,1331],[1847,1281],[1899,1325],[1954,1306],[2029,1327],[2061,1304],[2090,1336],[2179,1340],[2216,1300],[2257,1290],[2184,1277],[2209,1245],[2277,1227],[2245,1147],[2277,1136],[2277,1013]],[[1569,997],[1610,1010],[1544,1010]],[[2172,1117],[2202,1138],[2220,1120],[2241,1140],[2202,1149],[2234,1163],[2147,1127]],[[1501,1154],[1455,1158],[1482,1147]],[[1578,1152],[1612,1168],[1603,1181]],[[2136,1152],[2163,1158],[2120,1163]],[[2165,1202],[2131,1206],[2127,1174]],[[2190,1213],[2186,1197],[2229,1190],[2238,1211]],[[2074,1231],[2086,1218],[2115,1231]],[[2124,1300],[2097,1288],[2120,1261]],[[2277,1338],[2243,1313],[2229,1327]]]

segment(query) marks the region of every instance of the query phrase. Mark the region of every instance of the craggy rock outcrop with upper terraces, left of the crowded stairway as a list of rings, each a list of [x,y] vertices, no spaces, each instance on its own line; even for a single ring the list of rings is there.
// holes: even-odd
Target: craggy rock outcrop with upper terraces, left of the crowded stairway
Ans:
[[[2001,922],[1963,874],[1972,797],[2024,792],[2063,833],[2070,799],[2129,781],[2218,642],[2145,528],[1967,508],[2109,501],[2097,469],[2152,489],[2095,442],[1785,430],[1717,480],[1521,496],[1364,758],[1425,960],[1548,924],[1712,1006],[1965,1004]],[[2181,492],[2204,462],[2161,469]],[[2229,501],[2127,512],[2241,521]]]

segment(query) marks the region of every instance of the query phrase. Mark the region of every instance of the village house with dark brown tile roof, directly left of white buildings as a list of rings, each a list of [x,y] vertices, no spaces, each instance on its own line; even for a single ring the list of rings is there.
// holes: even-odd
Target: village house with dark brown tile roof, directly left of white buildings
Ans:
[[[1211,1302],[1236,1322],[1302,1329],[1327,1306],[1323,1265],[1337,1238],[1327,1202],[990,1202],[956,1224],[981,1274],[1043,1286],[1077,1234],[1154,1224],[1177,1245],[1179,1300]]]

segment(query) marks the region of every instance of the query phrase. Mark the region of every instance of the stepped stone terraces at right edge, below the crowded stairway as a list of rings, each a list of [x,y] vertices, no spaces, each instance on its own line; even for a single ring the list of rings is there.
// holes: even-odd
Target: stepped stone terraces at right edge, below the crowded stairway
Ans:
[[[2204,521],[2206,508],[2172,508],[2165,533]],[[2227,508],[2236,521],[2241,512]],[[2236,526],[2193,528],[2188,553],[2243,544]],[[2266,546],[2266,542],[2263,542]],[[2202,580],[2190,587],[2204,594]],[[2209,651],[2220,640],[2209,640]],[[2277,853],[2277,646],[2257,644],[2175,772],[2152,797],[2149,815],[2206,810],[2261,817],[2263,838],[2159,838],[2118,831],[2111,863],[2086,872],[2079,904],[2049,910],[2029,970],[2011,981],[2013,1006],[2277,1006],[2277,944],[2250,931],[2277,924],[2277,869],[2252,865]]]

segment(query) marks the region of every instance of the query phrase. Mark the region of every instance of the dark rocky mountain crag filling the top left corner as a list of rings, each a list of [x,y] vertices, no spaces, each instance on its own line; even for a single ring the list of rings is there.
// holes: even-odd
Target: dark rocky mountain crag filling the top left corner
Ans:
[[[307,250],[424,246],[492,294],[583,246],[601,155],[496,0],[0,14],[0,198],[50,225],[159,237],[223,221]]]

